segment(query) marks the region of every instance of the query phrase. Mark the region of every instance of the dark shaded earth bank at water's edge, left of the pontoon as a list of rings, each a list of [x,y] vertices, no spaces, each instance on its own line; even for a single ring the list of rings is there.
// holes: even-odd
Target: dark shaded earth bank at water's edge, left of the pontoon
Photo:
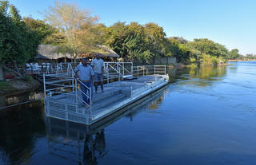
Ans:
[[[27,92],[36,89],[40,86],[40,83],[34,80],[32,77],[26,81],[21,79],[14,79],[10,81],[0,81],[0,95],[14,95],[22,92]]]

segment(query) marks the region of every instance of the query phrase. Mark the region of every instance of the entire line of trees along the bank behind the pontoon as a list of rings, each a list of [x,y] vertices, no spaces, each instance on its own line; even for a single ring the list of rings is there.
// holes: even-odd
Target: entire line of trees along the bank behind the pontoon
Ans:
[[[107,45],[121,56],[120,60],[145,64],[152,64],[156,57],[176,57],[178,63],[185,65],[217,65],[241,58],[238,49],[229,51],[225,45],[207,38],[187,41],[166,37],[164,29],[153,22],[105,26],[89,10],[65,2],[50,6],[42,21],[22,18],[8,1],[0,1],[0,17],[2,65],[34,61],[39,44],[58,45],[74,58],[94,52],[95,45]]]

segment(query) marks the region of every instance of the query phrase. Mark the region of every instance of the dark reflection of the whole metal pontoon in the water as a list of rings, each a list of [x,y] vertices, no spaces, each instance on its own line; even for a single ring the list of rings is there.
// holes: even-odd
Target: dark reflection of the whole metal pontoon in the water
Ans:
[[[92,126],[46,117],[49,154],[76,164],[97,164],[108,153],[105,128],[123,116],[132,121],[144,107],[155,109],[165,93],[166,88],[162,88]]]

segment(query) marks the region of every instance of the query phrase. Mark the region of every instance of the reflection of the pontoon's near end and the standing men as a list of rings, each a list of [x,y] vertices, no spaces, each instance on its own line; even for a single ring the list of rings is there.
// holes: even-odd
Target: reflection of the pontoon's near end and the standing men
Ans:
[[[97,164],[106,155],[104,129],[46,118],[50,155],[78,164]]]

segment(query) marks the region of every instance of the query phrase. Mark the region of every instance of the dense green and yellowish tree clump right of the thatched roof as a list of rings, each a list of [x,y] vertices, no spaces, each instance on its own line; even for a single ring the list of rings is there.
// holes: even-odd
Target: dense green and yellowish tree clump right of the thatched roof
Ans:
[[[123,61],[150,63],[154,57],[170,55],[165,36],[162,27],[154,23],[142,26],[137,22],[117,22],[105,28],[101,44],[109,45]]]

